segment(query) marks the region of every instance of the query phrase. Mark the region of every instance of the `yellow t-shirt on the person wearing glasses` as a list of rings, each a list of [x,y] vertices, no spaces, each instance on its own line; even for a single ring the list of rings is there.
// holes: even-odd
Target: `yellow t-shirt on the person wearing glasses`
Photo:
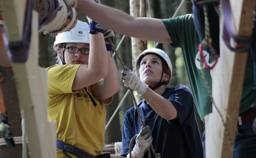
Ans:
[[[100,100],[97,86],[102,81],[72,92],[74,77],[79,68],[76,65],[54,65],[46,68],[48,73],[48,121],[56,122],[56,137],[89,154],[101,154],[104,148],[106,109],[112,97]],[[93,105],[92,96],[96,106]],[[75,157],[69,154],[71,157]],[[66,157],[57,149],[57,158]]]

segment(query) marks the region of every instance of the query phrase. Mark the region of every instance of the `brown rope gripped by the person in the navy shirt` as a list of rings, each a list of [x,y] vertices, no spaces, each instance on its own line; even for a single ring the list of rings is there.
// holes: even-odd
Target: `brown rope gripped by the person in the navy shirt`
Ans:
[[[115,46],[114,46],[112,40],[110,39],[110,37],[108,38],[108,40],[109,40],[109,42],[110,42],[110,44],[111,44],[111,46],[112,46],[112,49],[114,50],[114,52],[115,52],[117,58],[119,59],[121,65],[122,65],[122,67],[123,67],[123,69],[125,70],[126,68],[125,68],[125,66],[124,66],[124,62],[123,62],[122,59],[120,58],[120,56],[119,56],[117,50],[115,49]],[[131,93],[131,95],[132,95],[133,102],[135,103],[136,110],[137,110],[138,115],[139,115],[139,117],[140,117],[141,124],[142,124],[143,127],[145,127],[144,121],[143,121],[142,116],[141,116],[140,109],[139,109],[139,107],[138,107],[138,104],[137,104],[136,99],[135,99],[134,94],[133,94],[133,90],[130,90],[130,93]],[[130,141],[130,145],[129,145],[129,154],[130,154],[130,158],[132,158],[132,146],[131,146],[131,145],[132,145],[132,142],[134,141],[134,139],[135,139],[136,137],[137,137],[137,135],[135,135],[135,136],[132,138],[132,140]],[[156,153],[156,152],[155,152],[155,149],[154,149],[154,147],[153,147],[152,144],[151,144],[150,147],[151,147],[151,150],[153,151],[154,155],[156,156],[156,158],[160,157],[160,153]],[[148,150],[148,156],[149,156],[149,158],[151,158],[150,150]]]

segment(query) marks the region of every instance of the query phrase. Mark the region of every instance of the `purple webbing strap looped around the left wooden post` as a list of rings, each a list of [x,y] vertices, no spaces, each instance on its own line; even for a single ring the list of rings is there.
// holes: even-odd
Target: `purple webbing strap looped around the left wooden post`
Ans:
[[[32,21],[32,2],[27,1],[27,9],[24,19],[22,41],[9,42],[7,38],[6,44],[9,49],[8,56],[12,62],[26,62],[29,54],[29,45],[31,38],[31,21]]]

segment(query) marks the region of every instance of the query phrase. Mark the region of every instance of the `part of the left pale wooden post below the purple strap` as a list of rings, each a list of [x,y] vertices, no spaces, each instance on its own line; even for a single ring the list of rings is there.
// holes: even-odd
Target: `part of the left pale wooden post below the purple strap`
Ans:
[[[31,157],[55,158],[55,123],[47,122],[47,72],[38,66],[38,14],[33,11],[32,37],[26,63],[14,63],[21,113]],[[52,124],[52,125],[51,125]]]

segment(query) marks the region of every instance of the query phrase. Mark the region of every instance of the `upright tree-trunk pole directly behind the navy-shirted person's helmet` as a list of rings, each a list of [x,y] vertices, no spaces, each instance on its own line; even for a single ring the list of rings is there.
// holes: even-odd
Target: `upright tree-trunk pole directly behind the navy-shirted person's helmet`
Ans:
[[[141,8],[141,15],[140,15]],[[146,1],[141,0],[130,0],[130,15],[135,17],[146,17]],[[135,60],[142,51],[147,49],[147,41],[139,38],[132,38],[132,65],[133,71],[135,72]],[[141,101],[142,98],[139,94],[135,93],[135,99],[137,102]]]

